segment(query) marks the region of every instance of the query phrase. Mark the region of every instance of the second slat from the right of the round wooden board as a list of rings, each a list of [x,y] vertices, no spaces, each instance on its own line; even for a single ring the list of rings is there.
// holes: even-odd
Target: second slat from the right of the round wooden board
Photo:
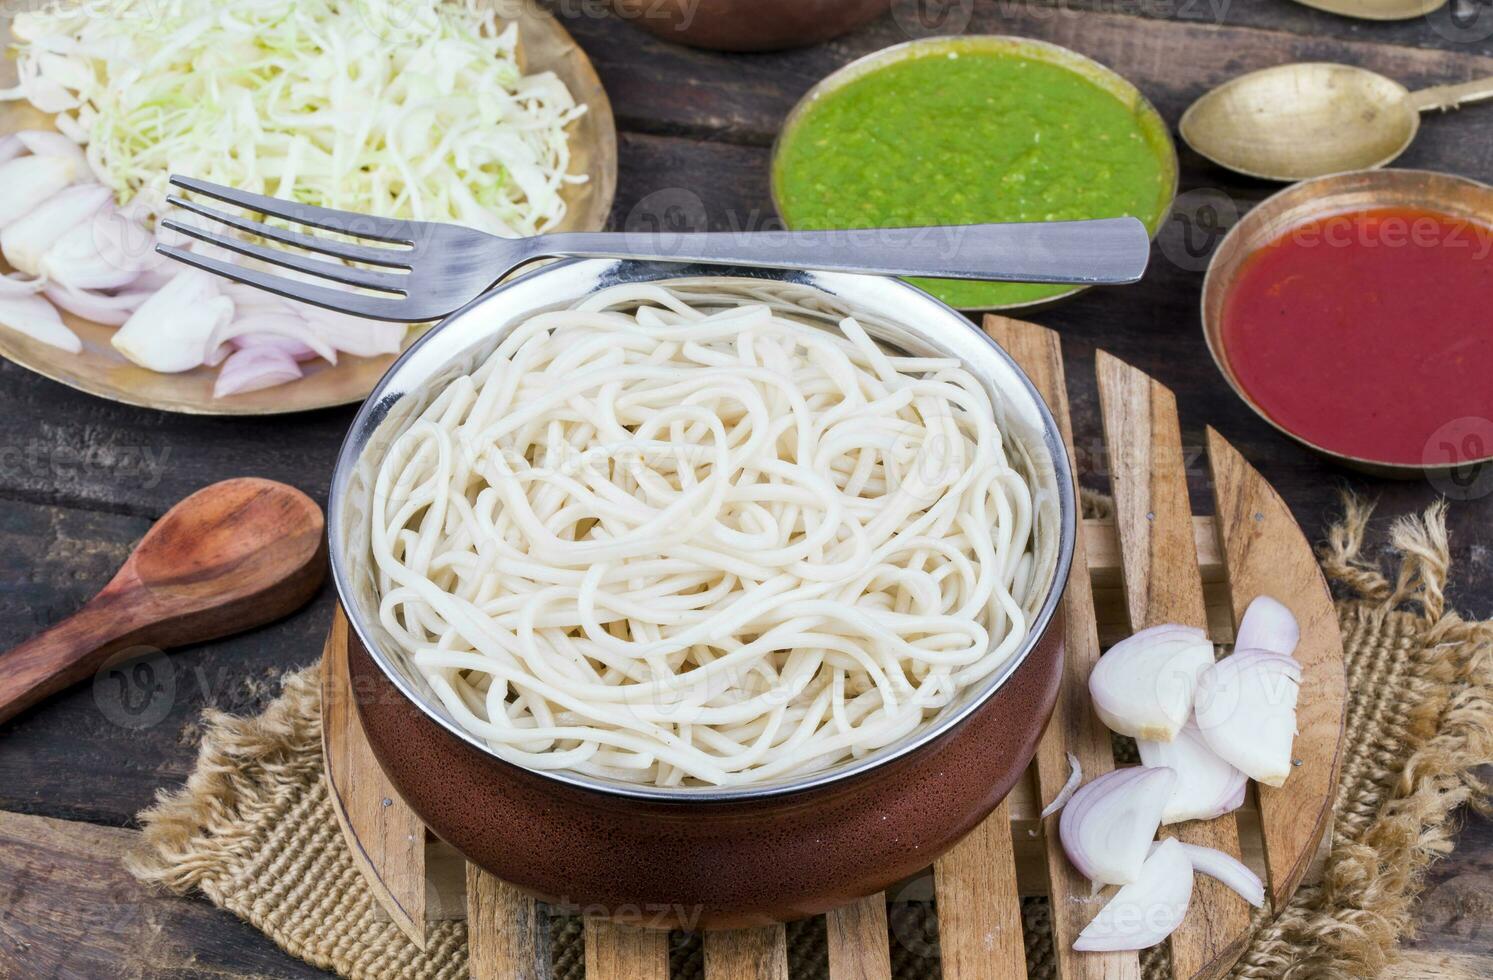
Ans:
[[[1193,544],[1176,399],[1148,375],[1099,351],[1099,400],[1130,624],[1208,626]],[[1163,828],[1188,844],[1241,856],[1233,814]],[[1221,977],[1244,952],[1250,907],[1221,881],[1197,875],[1187,919],[1172,934],[1172,976]]]

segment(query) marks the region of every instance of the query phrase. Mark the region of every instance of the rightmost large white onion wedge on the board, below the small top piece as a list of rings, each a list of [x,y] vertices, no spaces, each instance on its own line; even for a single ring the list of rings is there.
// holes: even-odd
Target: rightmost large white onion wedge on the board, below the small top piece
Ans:
[[[1300,663],[1269,650],[1236,650],[1197,683],[1197,729],[1224,762],[1266,786],[1291,774]]]

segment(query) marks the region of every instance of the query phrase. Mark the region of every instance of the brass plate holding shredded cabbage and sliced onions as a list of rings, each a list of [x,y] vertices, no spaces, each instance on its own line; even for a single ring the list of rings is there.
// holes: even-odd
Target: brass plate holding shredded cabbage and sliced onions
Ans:
[[[570,184],[564,190],[566,217],[555,232],[599,232],[606,226],[617,190],[617,127],[612,106],[590,60],[560,22],[527,0],[487,0],[506,19],[518,22],[518,37],[524,69],[554,72],[570,88],[576,102],[588,108],[570,124],[570,169],[587,173],[585,184]],[[10,45],[10,21],[0,24],[0,48]],[[0,64],[0,87],[16,81],[15,61]],[[0,103],[0,133],[25,128],[54,128],[52,117],[25,102]],[[0,266],[3,267],[3,266]],[[197,368],[166,375],[148,370],[127,360],[110,345],[116,327],[97,324],[72,314],[63,314],[84,350],[69,354],[40,344],[13,330],[0,327],[0,357],[39,375],[60,381],[79,391],[125,405],[139,405],[167,412],[191,415],[278,415],[305,412],[333,405],[361,402],[394,357],[337,359],[336,365],[317,360],[306,365],[306,376],[275,388],[248,391],[225,399],[212,397],[216,369]],[[412,344],[418,330],[411,330],[405,345]]]

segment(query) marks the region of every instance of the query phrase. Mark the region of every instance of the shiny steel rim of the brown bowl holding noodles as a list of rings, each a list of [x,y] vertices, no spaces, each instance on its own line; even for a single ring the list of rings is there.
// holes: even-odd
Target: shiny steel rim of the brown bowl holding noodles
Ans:
[[[766,783],[760,786],[691,786],[691,787],[658,787],[646,784],[632,784],[632,783],[615,783],[599,777],[590,777],[579,772],[572,772],[566,769],[530,769],[521,766],[515,762],[509,762],[502,756],[496,754],[488,748],[478,736],[467,732],[461,726],[455,725],[452,720],[446,719],[443,714],[431,710],[426,698],[414,689],[409,678],[405,677],[396,665],[391,663],[388,654],[381,648],[373,632],[363,621],[363,612],[358,604],[354,601],[357,595],[355,583],[351,578],[351,569],[343,557],[346,548],[346,533],[343,512],[348,503],[349,494],[349,480],[354,471],[361,462],[363,451],[367,447],[369,439],[376,433],[379,424],[387,417],[388,409],[393,408],[402,397],[409,393],[420,391],[426,382],[439,370],[440,368],[449,366],[454,360],[472,350],[472,344],[457,348],[454,354],[446,353],[439,357],[436,365],[426,372],[417,384],[409,388],[394,388],[393,382],[400,373],[400,369],[412,362],[421,360],[427,356],[427,347],[439,342],[437,338],[445,332],[448,326],[457,324],[461,318],[476,312],[481,306],[490,302],[497,302],[499,297],[508,294],[514,290],[523,290],[533,285],[537,281],[546,278],[555,278],[561,273],[575,276],[579,282],[588,282],[585,293],[596,291],[606,285],[615,285],[618,282],[640,282],[640,281],[673,281],[693,276],[702,278],[741,278],[741,279],[758,279],[767,282],[787,282],[787,284],[802,284],[812,288],[823,290],[835,297],[845,297],[848,302],[848,294],[857,287],[869,288],[869,284],[887,284],[893,290],[900,291],[914,305],[932,306],[927,312],[938,314],[941,311],[941,318],[947,324],[959,324],[963,327],[961,335],[973,338],[973,344],[978,345],[981,351],[988,351],[997,357],[1008,372],[1017,379],[1021,390],[1030,399],[1032,405],[1036,408],[1038,420],[1041,423],[1041,444],[1047,450],[1048,459],[1053,466],[1053,477],[1057,490],[1057,554],[1056,565],[1053,568],[1053,580],[1048,584],[1047,595],[1042,599],[1036,615],[1027,629],[1027,635],[1021,642],[1021,647],[1011,656],[1011,659],[991,677],[981,681],[979,687],[967,696],[967,702],[960,705],[959,710],[950,711],[944,717],[935,719],[927,728],[921,728],[902,739],[893,742],[888,747],[878,748],[869,753],[863,759],[855,759],[844,765],[836,765],[820,772],[811,772],[803,777],[790,778],[781,783]],[[626,278],[626,276],[635,278]],[[588,276],[588,278],[585,278]],[[555,287],[560,284],[557,282]],[[850,288],[845,288],[850,287]],[[552,290],[551,290],[552,291]],[[549,294],[551,291],[546,291]],[[566,300],[570,302],[570,300]],[[506,326],[514,326],[521,323],[533,312],[543,309],[539,308],[524,308],[520,309]],[[549,306],[552,308],[552,305]],[[878,311],[879,312],[879,311]],[[888,317],[891,318],[891,317]],[[902,317],[897,315],[896,320],[900,323]],[[966,344],[970,341],[966,341]],[[963,360],[963,359],[961,359]],[[979,376],[979,375],[976,375]],[[996,387],[996,382],[981,376],[982,382]],[[999,388],[997,388],[999,390]],[[1033,447],[1035,448],[1035,447]],[[348,617],[348,624],[357,635],[358,642],[367,650],[369,657],[375,662],[378,669],[384,677],[394,684],[394,687],[411,701],[421,714],[426,716],[434,725],[443,728],[449,735],[467,742],[490,760],[497,765],[514,766],[532,775],[554,780],[572,786],[575,789],[590,790],[600,793],[603,796],[626,798],[648,802],[670,802],[670,804],[729,804],[729,802],[746,802],[758,799],[772,799],[779,796],[788,796],[794,793],[802,793],[808,790],[821,789],[826,786],[833,786],[838,783],[845,783],[857,775],[863,775],[872,769],[878,769],[888,765],[897,759],[902,759],[924,745],[942,738],[944,735],[953,732],[959,728],[969,716],[984,707],[1006,681],[1015,675],[1015,672],[1026,663],[1030,653],[1036,648],[1038,642],[1047,635],[1047,630],[1053,626],[1053,618],[1057,612],[1057,607],[1063,599],[1063,592],[1067,586],[1067,575],[1072,566],[1073,548],[1078,535],[1078,499],[1076,499],[1076,484],[1073,481],[1072,466],[1069,465],[1067,447],[1063,444],[1057,421],[1053,418],[1047,402],[1038,393],[1036,385],[1026,372],[1015,363],[1015,360],[997,345],[988,335],[975,327],[969,320],[953,309],[947,303],[942,303],[936,297],[924,293],[923,290],[902,282],[900,279],[888,276],[869,276],[855,273],[829,273],[829,272],[787,272],[773,269],[745,269],[733,266],[679,266],[666,263],[639,263],[627,260],[600,260],[600,258],[570,258],[542,269],[536,269],[530,273],[511,279],[503,285],[479,296],[472,300],[457,312],[451,314],[446,320],[437,324],[434,329],[428,330],[415,344],[412,344],[399,360],[388,369],[388,372],[379,379],[373,391],[369,394],[367,400],[358,409],[348,429],[348,435],[342,442],[342,448],[337,451],[336,469],[331,477],[331,491],[327,500],[327,536],[328,536],[328,553],[331,563],[331,580],[337,592],[337,599]],[[1021,722],[1017,722],[1021,723]]]

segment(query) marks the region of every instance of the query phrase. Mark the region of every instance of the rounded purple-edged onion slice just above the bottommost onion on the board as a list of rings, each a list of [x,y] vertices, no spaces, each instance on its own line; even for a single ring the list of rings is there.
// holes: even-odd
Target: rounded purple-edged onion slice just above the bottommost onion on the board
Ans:
[[[1063,853],[1090,881],[1135,881],[1175,784],[1171,769],[1147,766],[1115,769],[1090,781],[1063,807]]]

